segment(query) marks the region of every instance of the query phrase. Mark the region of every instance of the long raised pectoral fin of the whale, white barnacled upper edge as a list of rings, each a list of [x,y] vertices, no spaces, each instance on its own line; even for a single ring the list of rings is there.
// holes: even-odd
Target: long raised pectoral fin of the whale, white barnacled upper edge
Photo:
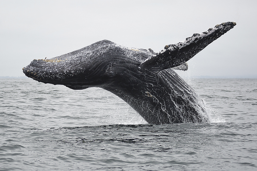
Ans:
[[[201,34],[195,33],[191,37],[186,38],[184,42],[166,45],[159,53],[141,63],[139,69],[158,73],[163,69],[180,66],[235,25],[235,22],[222,23],[214,28],[209,28],[208,31]]]

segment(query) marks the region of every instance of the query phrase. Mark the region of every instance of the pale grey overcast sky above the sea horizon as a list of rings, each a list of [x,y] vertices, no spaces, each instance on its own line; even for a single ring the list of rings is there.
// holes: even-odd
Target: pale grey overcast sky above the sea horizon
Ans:
[[[191,76],[257,78],[257,1],[0,0],[0,76],[33,59],[108,39],[159,52],[223,22],[237,25],[188,61]]]

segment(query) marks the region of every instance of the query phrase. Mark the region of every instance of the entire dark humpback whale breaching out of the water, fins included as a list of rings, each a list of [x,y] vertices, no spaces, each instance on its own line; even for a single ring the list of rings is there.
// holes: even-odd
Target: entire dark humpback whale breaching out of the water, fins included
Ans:
[[[23,73],[38,82],[75,90],[106,89],[150,124],[210,122],[204,101],[174,69],[187,70],[190,58],[235,25],[216,25],[158,53],[102,40],[51,59],[34,59]]]

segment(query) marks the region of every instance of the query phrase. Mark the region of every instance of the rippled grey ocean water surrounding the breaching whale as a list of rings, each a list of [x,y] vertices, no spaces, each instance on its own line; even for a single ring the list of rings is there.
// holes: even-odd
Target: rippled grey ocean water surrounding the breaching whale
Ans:
[[[0,79],[0,170],[257,170],[257,79],[188,79],[212,123],[147,124],[101,88]]]

